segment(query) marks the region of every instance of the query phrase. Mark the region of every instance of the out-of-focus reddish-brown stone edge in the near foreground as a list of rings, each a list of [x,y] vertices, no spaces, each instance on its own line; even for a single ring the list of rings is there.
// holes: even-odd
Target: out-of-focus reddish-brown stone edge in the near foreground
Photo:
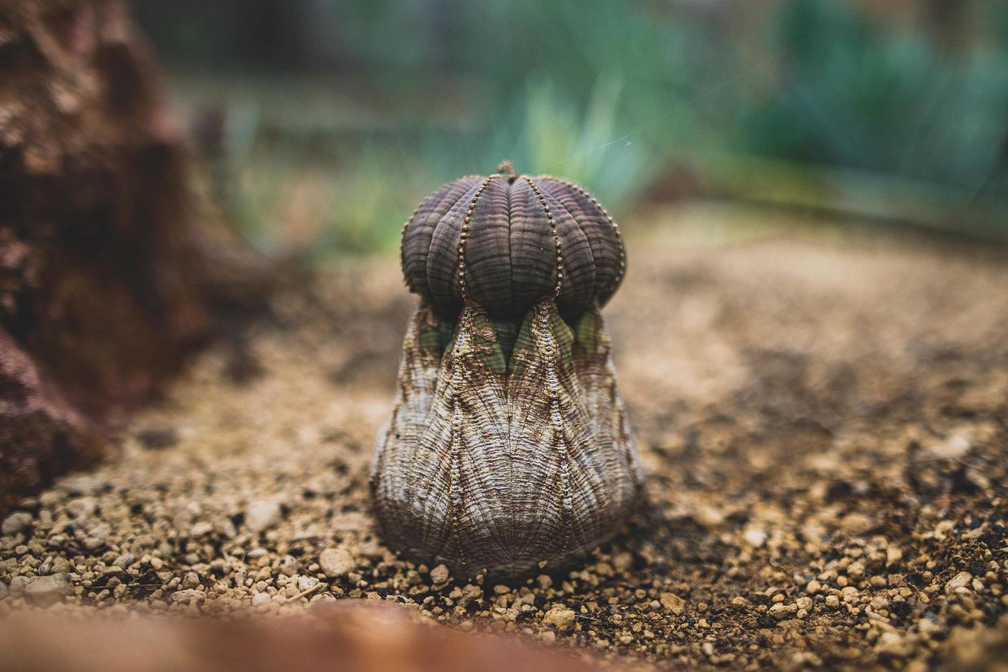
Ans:
[[[594,672],[591,659],[451,630],[388,603],[333,601],[304,615],[237,623],[12,615],[5,670],[340,670]],[[626,669],[610,666],[608,669]]]

